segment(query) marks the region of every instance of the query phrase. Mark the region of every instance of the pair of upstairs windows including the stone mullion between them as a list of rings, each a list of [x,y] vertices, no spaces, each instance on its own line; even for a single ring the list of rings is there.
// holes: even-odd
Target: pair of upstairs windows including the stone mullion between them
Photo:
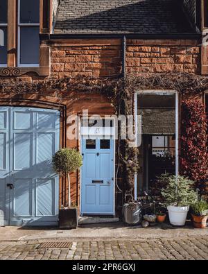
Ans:
[[[11,5],[12,2],[0,0],[1,36],[3,33],[0,67],[39,67],[40,0],[17,0],[14,8],[9,3]],[[11,53],[13,61],[9,62],[8,54]]]

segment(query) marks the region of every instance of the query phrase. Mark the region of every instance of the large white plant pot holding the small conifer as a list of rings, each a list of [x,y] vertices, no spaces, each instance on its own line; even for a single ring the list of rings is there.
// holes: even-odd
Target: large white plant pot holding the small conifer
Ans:
[[[187,221],[187,214],[189,211],[189,206],[187,207],[174,207],[170,205],[167,207],[168,209],[168,214],[169,214],[169,219],[171,225],[185,225]]]

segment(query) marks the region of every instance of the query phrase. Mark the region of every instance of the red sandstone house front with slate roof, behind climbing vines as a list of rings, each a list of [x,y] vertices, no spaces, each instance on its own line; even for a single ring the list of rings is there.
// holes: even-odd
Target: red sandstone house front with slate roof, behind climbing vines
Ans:
[[[47,81],[64,85],[65,79],[207,76],[207,2],[1,0],[0,225],[58,223],[68,189],[51,158],[62,147],[83,154],[82,169],[71,174],[72,201],[80,214],[119,216],[125,182],[118,178],[114,126],[106,127],[107,139],[100,134],[104,126],[90,138],[89,125],[79,126],[77,139],[67,133],[69,117],[82,119],[83,110],[115,115],[110,98],[77,92],[76,85],[70,91],[45,85],[33,92],[31,87]],[[8,85],[10,92],[4,92]],[[206,92],[195,98],[207,102]],[[177,90],[162,87],[134,94],[134,113],[144,121],[135,198],[157,175],[180,171],[182,99]]]

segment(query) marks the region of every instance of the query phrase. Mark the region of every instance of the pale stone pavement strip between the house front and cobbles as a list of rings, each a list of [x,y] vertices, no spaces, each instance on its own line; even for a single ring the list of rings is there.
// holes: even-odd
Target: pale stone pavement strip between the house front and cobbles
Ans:
[[[37,239],[74,239],[83,241],[93,239],[155,239],[174,237],[205,237],[208,228],[195,229],[191,224],[175,228],[169,224],[157,225],[150,228],[128,226],[123,223],[99,223],[82,225],[76,230],[60,230],[59,228],[0,228],[0,241],[35,241]]]

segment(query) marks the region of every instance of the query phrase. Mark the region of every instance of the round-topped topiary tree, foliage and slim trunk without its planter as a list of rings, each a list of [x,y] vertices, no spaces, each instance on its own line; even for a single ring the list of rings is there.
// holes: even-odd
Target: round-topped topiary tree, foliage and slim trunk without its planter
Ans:
[[[76,171],[83,165],[83,157],[73,148],[62,148],[53,155],[53,169],[57,173],[67,173],[69,187],[69,207],[71,207],[71,183],[69,173]]]

